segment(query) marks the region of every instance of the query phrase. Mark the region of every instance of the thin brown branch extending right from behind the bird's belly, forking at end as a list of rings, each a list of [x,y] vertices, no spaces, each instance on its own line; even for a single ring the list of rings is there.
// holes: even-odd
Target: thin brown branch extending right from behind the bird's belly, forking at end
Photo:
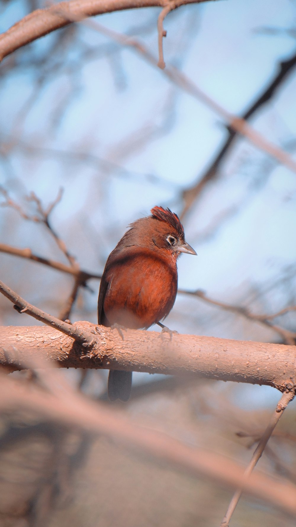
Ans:
[[[285,329],[281,326],[275,325],[270,322],[273,318],[279,317],[281,315],[284,315],[285,313],[288,313],[288,311],[295,311],[296,306],[288,306],[284,309],[281,309],[281,311],[278,311],[278,313],[275,313],[274,315],[256,315],[254,313],[251,313],[248,308],[243,306],[233,306],[231,304],[225,304],[225,302],[219,302],[218,300],[212,300],[211,298],[207,297],[205,293],[201,290],[196,291],[187,291],[185,289],[178,289],[178,292],[182,295],[192,295],[198,298],[201,298],[205,302],[208,302],[208,304],[212,304],[213,306],[221,307],[225,311],[231,311],[232,313],[235,313],[237,315],[242,315],[243,317],[247,318],[248,320],[252,320],[255,322],[259,322],[260,324],[263,324],[264,326],[267,326],[274,331],[276,331],[285,343],[287,344],[295,344],[296,339],[296,332],[295,331],[289,331],[289,329]]]

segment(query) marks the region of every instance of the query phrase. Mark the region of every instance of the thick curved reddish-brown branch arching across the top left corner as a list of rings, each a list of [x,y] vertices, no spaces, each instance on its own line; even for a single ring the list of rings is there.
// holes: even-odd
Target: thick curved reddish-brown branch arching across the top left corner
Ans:
[[[198,4],[209,0],[174,0],[172,9],[181,5]],[[19,47],[51,33],[60,27],[79,22],[89,16],[135,9],[167,6],[167,0],[70,0],[44,9],[36,9],[0,35],[0,62]],[[66,16],[65,16],[66,14]]]

